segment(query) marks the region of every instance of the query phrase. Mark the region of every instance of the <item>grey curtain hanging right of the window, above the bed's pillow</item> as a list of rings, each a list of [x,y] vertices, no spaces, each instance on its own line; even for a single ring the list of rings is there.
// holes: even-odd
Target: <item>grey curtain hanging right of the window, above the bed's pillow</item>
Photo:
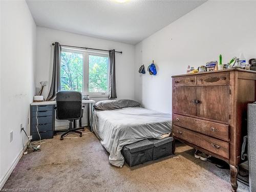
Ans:
[[[109,98],[116,99],[116,59],[115,50],[110,50],[110,76],[109,76]]]

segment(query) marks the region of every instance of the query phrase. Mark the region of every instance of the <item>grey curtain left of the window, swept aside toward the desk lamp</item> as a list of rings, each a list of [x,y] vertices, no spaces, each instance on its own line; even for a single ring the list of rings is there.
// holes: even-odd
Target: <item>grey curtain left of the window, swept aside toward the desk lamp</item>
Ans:
[[[56,99],[56,94],[60,91],[60,57],[61,47],[58,42],[55,42],[53,48],[53,68],[52,68],[52,82],[51,88],[47,97],[47,101],[53,101]]]

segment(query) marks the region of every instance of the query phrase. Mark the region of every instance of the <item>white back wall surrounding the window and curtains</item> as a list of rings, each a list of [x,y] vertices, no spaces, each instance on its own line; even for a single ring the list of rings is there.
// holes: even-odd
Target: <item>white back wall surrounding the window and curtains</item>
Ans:
[[[103,29],[102,29],[103,30]],[[72,45],[79,47],[90,47],[96,49],[115,49],[122,51],[116,53],[116,84],[118,99],[134,99],[134,66],[135,66],[135,46],[121,42],[94,38],[90,36],[78,35],[59,30],[37,27],[36,28],[36,87],[40,88],[40,81],[51,82],[52,71],[52,43],[57,41],[62,45]],[[48,84],[49,84],[48,83]],[[49,86],[46,86],[43,94],[47,97]],[[106,100],[108,98],[93,98],[94,100]],[[85,116],[86,114],[84,114]],[[87,124],[87,119],[82,119],[83,124]],[[56,127],[66,126],[67,122],[56,121]]]

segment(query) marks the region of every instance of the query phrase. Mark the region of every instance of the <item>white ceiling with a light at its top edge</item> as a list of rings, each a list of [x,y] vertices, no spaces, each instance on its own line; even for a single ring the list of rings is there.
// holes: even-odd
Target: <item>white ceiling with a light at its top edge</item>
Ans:
[[[137,44],[205,1],[27,0],[37,26]]]

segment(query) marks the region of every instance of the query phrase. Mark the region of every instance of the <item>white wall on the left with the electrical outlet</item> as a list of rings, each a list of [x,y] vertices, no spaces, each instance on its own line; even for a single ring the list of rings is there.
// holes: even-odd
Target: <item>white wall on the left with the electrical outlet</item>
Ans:
[[[26,143],[29,104],[35,93],[36,26],[25,1],[1,1],[0,188]],[[10,142],[10,132],[13,141]]]

